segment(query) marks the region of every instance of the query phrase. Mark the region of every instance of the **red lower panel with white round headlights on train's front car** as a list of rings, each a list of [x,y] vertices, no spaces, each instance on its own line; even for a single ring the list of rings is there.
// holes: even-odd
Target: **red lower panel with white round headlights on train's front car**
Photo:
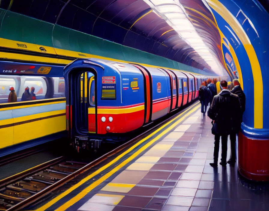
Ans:
[[[106,117],[106,121],[102,122],[101,118]],[[109,117],[113,120],[110,122]],[[127,114],[97,114],[97,133],[106,134],[107,132],[125,133],[141,127],[144,123],[144,110]],[[106,131],[109,126],[110,130]]]

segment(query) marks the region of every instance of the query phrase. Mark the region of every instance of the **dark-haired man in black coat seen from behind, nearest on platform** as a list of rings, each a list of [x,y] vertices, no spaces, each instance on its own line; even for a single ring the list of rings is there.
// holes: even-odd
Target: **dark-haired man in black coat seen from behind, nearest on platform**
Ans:
[[[232,94],[227,89],[227,82],[220,82],[222,91],[213,98],[213,102],[208,110],[207,115],[213,120],[212,134],[215,135],[214,142],[214,162],[211,166],[218,166],[219,157],[219,139],[221,136],[221,162],[226,166],[227,157],[227,138],[232,132],[238,130],[238,120],[240,119],[240,102],[237,95]]]

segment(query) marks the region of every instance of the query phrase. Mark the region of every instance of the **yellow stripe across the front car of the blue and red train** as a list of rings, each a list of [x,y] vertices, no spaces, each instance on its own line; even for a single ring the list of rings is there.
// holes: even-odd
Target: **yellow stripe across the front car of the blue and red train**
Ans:
[[[131,108],[97,108],[98,114],[128,114],[144,110],[144,105]],[[88,114],[95,114],[95,108],[88,108]]]

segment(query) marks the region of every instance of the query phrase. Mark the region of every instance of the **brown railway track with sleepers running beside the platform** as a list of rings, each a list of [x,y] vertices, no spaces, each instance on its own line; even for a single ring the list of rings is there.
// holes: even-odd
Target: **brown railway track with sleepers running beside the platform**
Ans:
[[[193,104],[192,104],[193,105]],[[185,108],[187,109],[187,108]],[[181,110],[184,111],[185,109]],[[149,132],[173,119],[178,113],[158,123],[130,141],[116,147],[110,152],[89,163],[68,161],[61,156],[14,176],[0,180],[0,211],[17,211],[38,201],[53,190],[74,179],[83,172],[98,165],[108,157],[147,136]]]

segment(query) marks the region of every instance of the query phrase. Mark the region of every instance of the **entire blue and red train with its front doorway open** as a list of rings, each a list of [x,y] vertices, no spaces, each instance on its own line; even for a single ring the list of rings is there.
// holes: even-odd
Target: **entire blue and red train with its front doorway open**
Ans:
[[[68,135],[79,150],[98,147],[112,134],[134,131],[190,103],[207,76],[80,58],[64,68],[64,78]]]

